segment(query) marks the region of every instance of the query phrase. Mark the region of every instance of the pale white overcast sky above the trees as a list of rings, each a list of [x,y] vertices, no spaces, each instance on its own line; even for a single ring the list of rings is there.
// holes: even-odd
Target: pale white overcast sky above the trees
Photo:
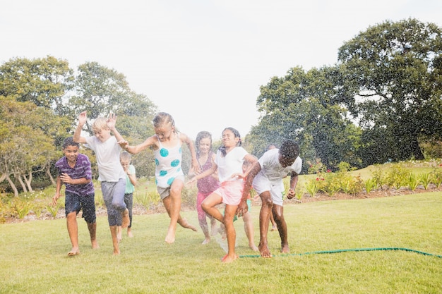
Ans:
[[[332,66],[359,32],[407,18],[442,27],[442,1],[1,0],[0,63],[97,62],[192,139],[208,130],[219,140],[227,127],[244,138],[271,78]]]

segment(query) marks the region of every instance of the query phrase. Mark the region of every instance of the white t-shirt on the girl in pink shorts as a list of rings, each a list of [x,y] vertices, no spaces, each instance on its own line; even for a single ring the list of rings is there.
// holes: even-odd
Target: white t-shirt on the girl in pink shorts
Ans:
[[[246,149],[240,146],[234,147],[225,157],[222,157],[220,150],[217,151],[215,164],[218,166],[220,183],[227,180],[238,180],[238,178],[232,178],[232,174],[242,173],[242,163],[247,154]],[[242,179],[239,178],[239,180]]]

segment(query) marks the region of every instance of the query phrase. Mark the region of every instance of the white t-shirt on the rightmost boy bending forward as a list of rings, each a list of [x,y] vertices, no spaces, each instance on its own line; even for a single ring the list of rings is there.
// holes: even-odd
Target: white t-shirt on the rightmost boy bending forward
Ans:
[[[295,173],[301,173],[302,159],[297,157],[291,166],[283,168],[279,161],[280,149],[270,149],[265,152],[263,156],[258,160],[261,165],[261,171],[257,176],[265,176],[270,181],[280,180],[285,178],[289,173],[294,171]]]

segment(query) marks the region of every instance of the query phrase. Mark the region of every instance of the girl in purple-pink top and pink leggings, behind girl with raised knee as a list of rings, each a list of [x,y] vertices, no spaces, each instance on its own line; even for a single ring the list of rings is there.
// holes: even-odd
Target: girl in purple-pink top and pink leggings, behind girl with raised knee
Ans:
[[[201,171],[207,171],[215,162],[215,153],[212,152],[212,135],[205,130],[201,131],[196,135],[195,146],[196,159],[198,159],[200,169]],[[189,171],[189,177],[193,177],[195,175],[196,171],[191,169]],[[196,212],[198,213],[198,223],[200,224],[201,230],[203,230],[205,236],[203,244],[208,244],[210,242],[210,233],[213,235],[217,231],[215,228],[216,222],[213,216],[210,216],[203,211],[201,203],[203,203],[203,200],[205,200],[208,195],[220,187],[217,173],[213,173],[210,176],[199,179],[196,186],[198,188],[198,194],[196,195]],[[206,216],[208,216],[210,219],[211,232],[209,232]]]

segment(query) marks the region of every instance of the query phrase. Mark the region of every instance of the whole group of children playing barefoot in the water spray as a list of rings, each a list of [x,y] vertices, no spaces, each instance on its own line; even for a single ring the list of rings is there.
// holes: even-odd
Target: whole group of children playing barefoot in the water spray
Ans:
[[[296,142],[287,140],[280,149],[271,149],[257,159],[241,147],[241,136],[234,128],[222,131],[222,146],[216,154],[212,151],[212,137],[208,132],[200,132],[196,144],[183,133],[177,132],[174,119],[165,112],[158,113],[153,119],[155,135],[143,143],[131,146],[115,128],[116,116],[97,118],[92,124],[94,133],[91,137],[80,135],[87,120],[86,112],[78,116],[78,126],[73,137],[66,139],[64,157],[59,159],[56,167],[57,177],[54,204],[60,196],[61,185],[66,185],[66,222],[71,238],[72,249],[68,255],[77,255],[78,229],[76,216],[83,209],[83,218],[88,223],[92,248],[99,247],[96,240],[95,201],[90,161],[78,153],[78,143],[87,144],[95,152],[98,173],[101,183],[104,204],[107,208],[107,219],[112,235],[114,255],[120,253],[119,241],[121,228],[128,228],[131,233],[133,186],[136,185],[135,169],[130,165],[130,154],[137,154],[150,147],[155,154],[155,183],[162,203],[169,214],[170,222],[165,237],[166,243],[174,243],[177,223],[184,228],[196,231],[180,215],[181,190],[184,185],[195,183],[198,188],[197,212],[198,222],[205,235],[203,244],[210,242],[210,235],[222,232],[227,237],[227,255],[222,262],[233,262],[238,256],[235,253],[236,232],[234,220],[237,216],[244,218],[244,230],[249,239],[249,247],[259,250],[262,257],[271,257],[267,245],[267,231],[270,216],[273,215],[281,238],[281,252],[289,252],[287,225],[283,216],[282,197],[285,195],[282,178],[290,174],[290,188],[287,198],[294,197],[297,176],[301,171],[299,147]],[[114,133],[114,136],[111,135]],[[191,152],[191,169],[187,183],[181,169],[181,145],[186,144]],[[196,146],[196,148],[195,148]],[[253,224],[250,209],[250,190],[258,192],[262,205],[260,220],[260,243],[253,242]],[[218,209],[225,204],[224,212]],[[206,216],[210,219],[209,232]],[[216,229],[216,221],[221,226]]]

